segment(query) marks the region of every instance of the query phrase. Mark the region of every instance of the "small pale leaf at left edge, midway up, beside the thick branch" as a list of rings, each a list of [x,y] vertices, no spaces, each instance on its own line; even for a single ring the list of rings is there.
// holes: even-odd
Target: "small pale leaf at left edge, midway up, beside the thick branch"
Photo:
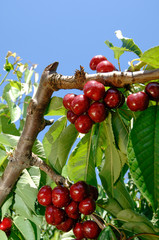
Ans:
[[[0,134],[0,143],[9,147],[15,147],[19,141],[19,136],[10,134]]]

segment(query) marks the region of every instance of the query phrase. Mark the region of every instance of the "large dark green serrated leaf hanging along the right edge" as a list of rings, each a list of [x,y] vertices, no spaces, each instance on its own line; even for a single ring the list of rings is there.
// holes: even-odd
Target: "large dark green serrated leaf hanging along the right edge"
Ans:
[[[159,207],[159,106],[149,107],[134,123],[129,144],[129,165],[134,182],[151,202]],[[134,153],[135,156],[134,156]]]

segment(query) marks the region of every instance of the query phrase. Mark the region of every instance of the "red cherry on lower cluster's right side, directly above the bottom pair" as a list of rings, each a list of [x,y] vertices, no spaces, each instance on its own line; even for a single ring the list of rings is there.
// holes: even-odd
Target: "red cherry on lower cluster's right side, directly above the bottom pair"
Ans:
[[[85,198],[79,204],[79,211],[84,215],[92,214],[96,209],[96,203],[93,198]]]

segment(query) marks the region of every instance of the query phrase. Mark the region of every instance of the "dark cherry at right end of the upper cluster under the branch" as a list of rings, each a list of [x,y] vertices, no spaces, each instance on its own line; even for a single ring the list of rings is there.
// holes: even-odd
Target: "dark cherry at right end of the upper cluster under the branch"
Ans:
[[[117,108],[122,101],[121,92],[116,88],[109,88],[106,91],[104,102],[108,108]]]

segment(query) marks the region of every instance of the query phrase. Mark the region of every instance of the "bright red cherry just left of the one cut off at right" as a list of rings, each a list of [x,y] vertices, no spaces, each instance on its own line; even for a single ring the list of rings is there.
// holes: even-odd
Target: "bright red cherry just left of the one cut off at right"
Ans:
[[[143,111],[149,105],[149,97],[145,92],[132,93],[127,97],[127,106],[131,111]]]

